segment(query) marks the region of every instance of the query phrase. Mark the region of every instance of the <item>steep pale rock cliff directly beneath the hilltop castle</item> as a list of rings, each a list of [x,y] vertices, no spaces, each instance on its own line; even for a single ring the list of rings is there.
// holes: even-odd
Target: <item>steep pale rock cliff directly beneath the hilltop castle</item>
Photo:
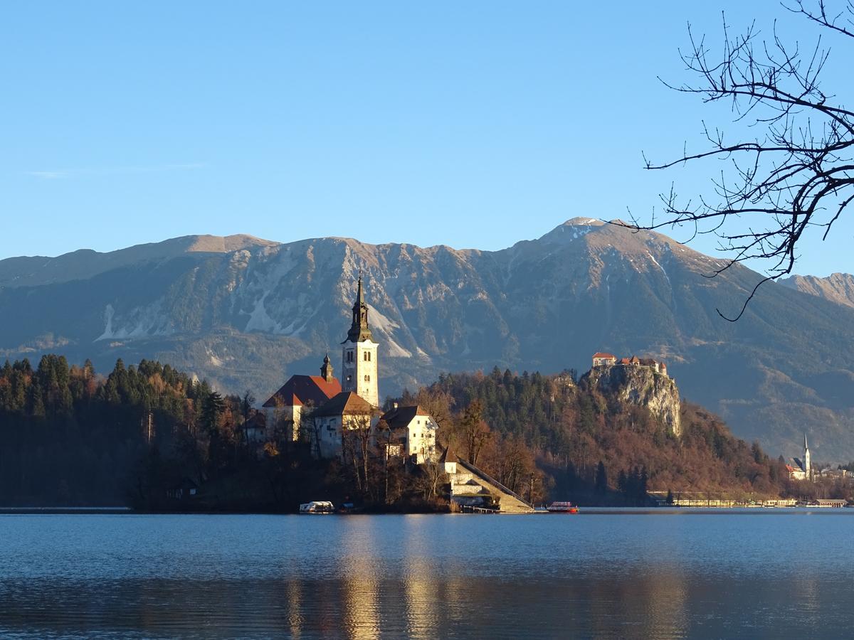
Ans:
[[[667,375],[643,365],[617,364],[594,367],[582,376],[582,381],[620,402],[646,407],[670,433],[681,435],[679,389]]]

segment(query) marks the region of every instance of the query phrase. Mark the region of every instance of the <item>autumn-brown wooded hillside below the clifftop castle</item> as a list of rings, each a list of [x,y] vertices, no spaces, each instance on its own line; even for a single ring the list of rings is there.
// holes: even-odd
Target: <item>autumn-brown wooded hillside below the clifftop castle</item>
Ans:
[[[717,416],[683,403],[682,433],[670,433],[644,407],[602,394],[573,372],[445,374],[405,399],[445,417],[461,457],[525,492],[538,474],[553,497],[640,501],[642,489],[775,496],[787,490],[782,463],[735,438]],[[472,439],[471,406],[483,422]],[[468,409],[467,409],[468,408]],[[510,445],[510,446],[508,446]],[[513,464],[508,459],[518,457]],[[539,472],[534,468],[537,463]],[[507,469],[524,468],[508,473]],[[518,476],[518,477],[517,477]]]

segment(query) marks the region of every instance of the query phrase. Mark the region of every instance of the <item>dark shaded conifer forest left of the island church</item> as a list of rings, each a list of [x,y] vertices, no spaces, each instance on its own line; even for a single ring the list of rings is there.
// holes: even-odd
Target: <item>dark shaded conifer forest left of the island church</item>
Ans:
[[[0,503],[132,503],[147,491],[145,465],[183,447],[182,464],[157,471],[161,488],[178,484],[202,469],[194,462],[210,459],[215,468],[229,457],[240,403],[146,360],[138,367],[119,360],[106,378],[88,360],[69,366],[46,355],[35,369],[26,359],[7,361],[0,369]],[[207,450],[198,449],[197,434]]]

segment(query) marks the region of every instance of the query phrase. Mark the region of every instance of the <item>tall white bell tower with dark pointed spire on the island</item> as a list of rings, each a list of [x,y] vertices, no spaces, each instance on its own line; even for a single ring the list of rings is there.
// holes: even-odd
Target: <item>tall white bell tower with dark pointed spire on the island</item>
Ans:
[[[354,391],[373,406],[379,406],[377,389],[377,346],[368,326],[368,305],[359,273],[356,301],[353,305],[353,323],[342,342],[342,391]]]

